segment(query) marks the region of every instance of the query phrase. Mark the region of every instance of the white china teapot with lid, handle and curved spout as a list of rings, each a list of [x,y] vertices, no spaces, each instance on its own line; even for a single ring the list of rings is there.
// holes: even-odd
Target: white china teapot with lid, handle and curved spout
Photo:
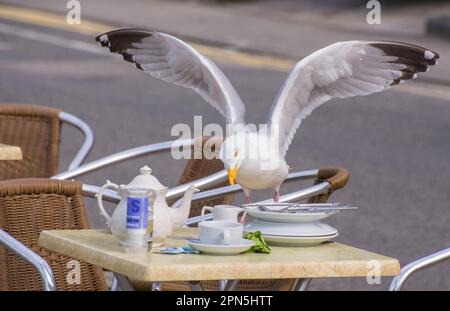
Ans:
[[[154,200],[154,224],[153,224],[153,242],[163,242],[168,235],[172,234],[174,226],[183,226],[191,210],[192,195],[199,191],[194,186],[189,187],[184,193],[178,207],[169,207],[166,202],[166,193],[169,190],[163,186],[153,175],[152,169],[148,166],[142,167],[140,175],[136,176],[128,185],[116,185],[109,180],[104,184],[97,195],[100,214],[105,217],[106,224],[119,240],[126,238],[126,214],[127,214],[127,191],[131,188],[141,188],[153,190],[156,193]],[[121,200],[117,205],[112,216],[106,212],[103,207],[102,196],[105,189],[113,189],[119,193]],[[150,213],[149,213],[150,215]]]

